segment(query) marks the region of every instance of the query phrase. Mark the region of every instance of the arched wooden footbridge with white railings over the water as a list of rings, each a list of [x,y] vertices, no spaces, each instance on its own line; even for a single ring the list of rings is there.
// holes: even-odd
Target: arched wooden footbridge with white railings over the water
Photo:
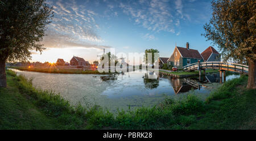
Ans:
[[[239,72],[240,74],[248,74],[249,67],[246,65],[241,65],[238,63],[229,63],[229,62],[199,62],[199,63],[192,63],[190,65],[184,66],[184,71],[194,71],[199,70],[199,75],[201,75],[201,70],[206,69],[218,69],[220,72],[225,71],[233,71]],[[224,74],[225,75],[225,74]]]

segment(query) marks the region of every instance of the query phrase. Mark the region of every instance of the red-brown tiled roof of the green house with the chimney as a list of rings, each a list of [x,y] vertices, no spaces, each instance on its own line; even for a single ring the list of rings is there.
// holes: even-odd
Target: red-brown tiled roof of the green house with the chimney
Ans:
[[[203,59],[198,52],[198,50],[195,49],[187,49],[177,46],[177,49],[179,50],[180,54],[183,58],[196,58],[196,59]]]

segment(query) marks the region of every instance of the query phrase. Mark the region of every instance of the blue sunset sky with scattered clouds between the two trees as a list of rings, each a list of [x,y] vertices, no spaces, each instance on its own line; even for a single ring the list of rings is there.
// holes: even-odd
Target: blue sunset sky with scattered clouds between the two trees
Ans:
[[[42,43],[46,50],[32,52],[31,61],[69,62],[73,55],[86,61],[99,60],[105,48],[115,53],[143,53],[158,49],[170,57],[175,44],[203,52],[206,41],[203,25],[209,22],[209,0],[48,0],[54,17],[47,25]],[[217,49],[216,46],[213,46]]]

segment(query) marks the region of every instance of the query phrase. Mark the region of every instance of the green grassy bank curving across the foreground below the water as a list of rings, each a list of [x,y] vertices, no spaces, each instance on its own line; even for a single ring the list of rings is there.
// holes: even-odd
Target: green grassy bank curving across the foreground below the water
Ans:
[[[0,88],[0,129],[256,129],[256,90],[245,89],[246,79],[225,82],[205,101],[188,95],[114,116],[100,106],[71,106],[7,71],[7,88]]]

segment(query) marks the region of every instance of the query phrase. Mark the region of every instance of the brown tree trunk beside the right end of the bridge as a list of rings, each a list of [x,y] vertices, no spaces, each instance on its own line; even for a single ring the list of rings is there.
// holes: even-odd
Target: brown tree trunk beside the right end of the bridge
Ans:
[[[256,88],[256,61],[247,59],[249,63],[248,83],[246,88]]]

